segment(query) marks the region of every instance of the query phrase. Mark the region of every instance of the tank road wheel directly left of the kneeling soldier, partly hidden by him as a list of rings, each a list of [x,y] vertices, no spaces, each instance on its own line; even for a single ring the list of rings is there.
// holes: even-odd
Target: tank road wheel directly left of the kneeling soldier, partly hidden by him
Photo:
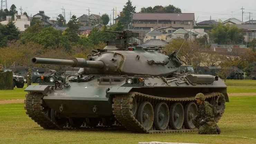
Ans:
[[[194,129],[196,128],[195,125],[192,123],[193,118],[197,114],[197,105],[194,102],[190,102],[186,104],[184,109],[184,125],[188,129]]]

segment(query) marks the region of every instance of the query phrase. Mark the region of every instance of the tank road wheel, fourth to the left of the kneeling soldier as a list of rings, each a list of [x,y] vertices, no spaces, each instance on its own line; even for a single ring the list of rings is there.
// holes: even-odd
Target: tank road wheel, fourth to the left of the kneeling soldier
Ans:
[[[142,102],[138,109],[138,121],[150,130],[154,122],[154,110],[150,102]]]

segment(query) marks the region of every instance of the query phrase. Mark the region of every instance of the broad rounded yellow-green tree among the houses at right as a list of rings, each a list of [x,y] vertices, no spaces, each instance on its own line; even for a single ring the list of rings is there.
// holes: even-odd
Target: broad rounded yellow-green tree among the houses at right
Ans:
[[[210,40],[218,44],[240,44],[244,43],[242,29],[238,29],[235,25],[223,25],[218,22],[217,27],[214,27],[210,35]]]

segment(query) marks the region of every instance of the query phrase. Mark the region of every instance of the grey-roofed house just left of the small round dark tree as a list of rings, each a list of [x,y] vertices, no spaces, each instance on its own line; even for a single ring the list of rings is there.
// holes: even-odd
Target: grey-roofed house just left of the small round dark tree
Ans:
[[[95,21],[95,23],[98,24],[99,19],[101,19],[101,16],[97,14],[90,14],[90,16],[88,16],[87,14],[83,14],[77,19],[80,25],[92,25],[93,21]]]

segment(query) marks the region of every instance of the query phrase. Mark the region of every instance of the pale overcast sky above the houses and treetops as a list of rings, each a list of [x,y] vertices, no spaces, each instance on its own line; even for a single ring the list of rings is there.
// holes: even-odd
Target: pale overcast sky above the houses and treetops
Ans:
[[[122,11],[127,0],[6,0],[7,8],[10,9],[12,4],[15,4],[18,12],[20,7],[22,12],[26,11],[29,16],[33,16],[44,10],[45,14],[51,19],[55,19],[58,14],[63,13],[65,9],[67,21],[71,15],[77,17],[83,14],[88,15],[88,9],[93,14],[102,15],[107,13],[113,18],[113,8],[117,14]],[[243,21],[250,19],[256,20],[256,0],[131,0],[132,6],[136,6],[136,12],[139,12],[142,7],[168,6],[172,4],[181,9],[182,13],[195,13],[195,20],[201,22],[204,20],[221,19],[225,21],[229,18],[237,18],[242,20],[242,10],[244,8]],[[115,17],[115,13],[114,13]],[[112,20],[113,21],[113,20]]]

